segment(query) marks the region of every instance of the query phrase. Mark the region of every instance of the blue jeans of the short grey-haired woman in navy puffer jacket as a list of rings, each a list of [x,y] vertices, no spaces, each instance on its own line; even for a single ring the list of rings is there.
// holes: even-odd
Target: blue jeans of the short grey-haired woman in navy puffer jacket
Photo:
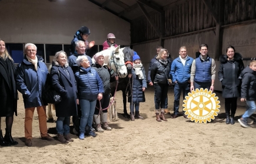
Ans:
[[[81,119],[80,119],[80,133],[85,133],[85,126],[88,125],[88,127],[91,129],[92,127],[92,121],[94,119],[94,110],[96,106],[97,100],[84,100],[80,99],[79,104],[81,105]]]

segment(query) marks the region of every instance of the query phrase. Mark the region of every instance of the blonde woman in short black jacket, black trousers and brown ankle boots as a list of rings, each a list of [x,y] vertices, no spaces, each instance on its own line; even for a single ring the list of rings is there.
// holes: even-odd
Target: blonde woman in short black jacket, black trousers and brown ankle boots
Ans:
[[[155,87],[155,114],[157,121],[167,121],[164,118],[165,100],[167,98],[169,88],[169,71],[171,69],[171,62],[167,59],[167,49],[161,49],[157,56],[157,61],[152,64],[151,67],[151,80]],[[159,115],[161,108],[161,115]]]

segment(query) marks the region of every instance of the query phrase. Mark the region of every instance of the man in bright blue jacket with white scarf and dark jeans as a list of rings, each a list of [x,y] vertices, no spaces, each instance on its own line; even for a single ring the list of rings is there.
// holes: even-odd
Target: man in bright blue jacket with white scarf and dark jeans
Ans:
[[[183,93],[183,100],[188,95],[190,90],[190,70],[193,62],[193,58],[187,55],[187,47],[182,46],[179,48],[179,57],[174,59],[171,65],[170,74],[172,81],[175,83],[174,87],[174,115],[172,118],[177,118],[179,113],[179,98],[181,97],[181,91]],[[184,118],[188,118],[183,114]]]

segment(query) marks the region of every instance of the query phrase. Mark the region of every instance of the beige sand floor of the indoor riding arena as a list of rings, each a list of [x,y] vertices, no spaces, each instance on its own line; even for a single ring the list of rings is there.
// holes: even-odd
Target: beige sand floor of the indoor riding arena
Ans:
[[[0,163],[255,163],[255,125],[251,128],[225,124],[224,99],[218,117],[211,123],[198,124],[184,117],[168,122],[155,121],[154,89],[146,91],[147,102],[141,103],[144,120],[129,121],[122,116],[121,91],[117,94],[119,121],[110,122],[112,131],[98,133],[84,141],[78,136],[67,145],[59,141],[40,139],[38,117],[35,111],[33,146],[24,144],[24,105],[19,94],[18,117],[14,118],[12,136],[16,146],[0,147]],[[169,110],[172,111],[174,92],[170,87]],[[127,104],[129,107],[129,104]],[[129,108],[128,108],[129,109]],[[180,107],[181,109],[181,107]],[[180,110],[181,111],[181,110]],[[235,119],[245,111],[245,103],[238,101]],[[128,111],[129,112],[129,111]],[[181,112],[180,112],[181,113]],[[54,111],[55,115],[55,111]],[[255,116],[255,115],[254,115]],[[54,117],[56,119],[56,117]],[[255,117],[252,117],[255,118]],[[4,129],[4,121],[1,124]],[[55,123],[48,123],[49,134],[56,136]],[[72,128],[72,124],[71,124]]]

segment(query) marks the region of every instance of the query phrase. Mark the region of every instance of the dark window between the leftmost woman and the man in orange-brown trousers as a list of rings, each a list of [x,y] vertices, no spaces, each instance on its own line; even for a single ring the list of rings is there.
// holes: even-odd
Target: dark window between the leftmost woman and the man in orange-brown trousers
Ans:
[[[6,49],[14,59],[14,63],[21,63],[24,59],[24,50],[22,43],[6,43]]]

